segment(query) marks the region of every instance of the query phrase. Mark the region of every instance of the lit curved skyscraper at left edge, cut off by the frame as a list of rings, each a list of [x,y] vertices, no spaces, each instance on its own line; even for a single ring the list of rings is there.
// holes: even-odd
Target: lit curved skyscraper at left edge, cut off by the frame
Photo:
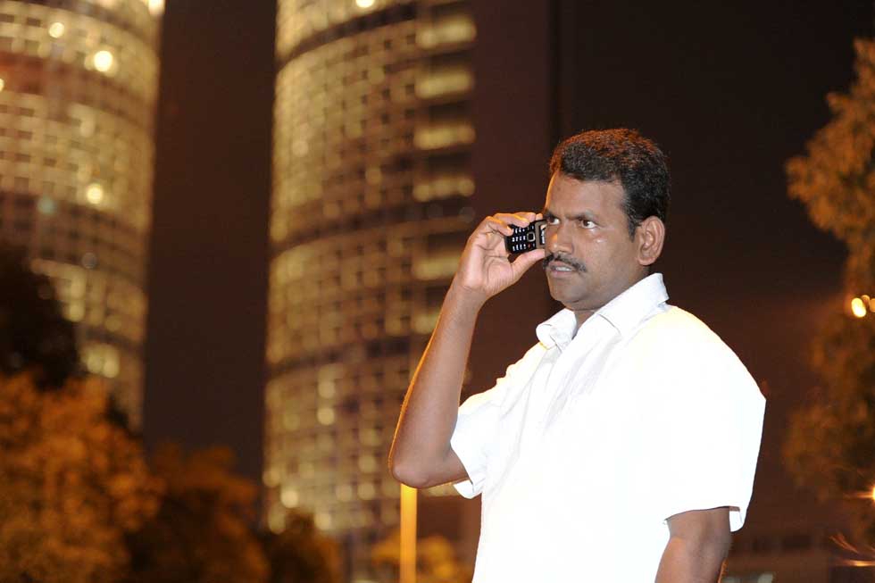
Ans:
[[[0,0],[0,238],[140,423],[163,0]]]

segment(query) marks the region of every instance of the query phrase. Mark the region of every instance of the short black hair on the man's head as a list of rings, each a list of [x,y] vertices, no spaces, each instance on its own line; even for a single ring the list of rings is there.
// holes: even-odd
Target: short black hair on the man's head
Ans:
[[[634,129],[583,131],[562,141],[550,158],[550,175],[619,182],[629,237],[647,217],[668,219],[671,187],[665,154]]]

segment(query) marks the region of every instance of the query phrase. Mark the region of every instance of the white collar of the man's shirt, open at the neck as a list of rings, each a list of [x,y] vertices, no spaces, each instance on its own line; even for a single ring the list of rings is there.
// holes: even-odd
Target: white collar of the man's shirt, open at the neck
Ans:
[[[604,304],[591,318],[600,317],[608,321],[621,336],[626,336],[644,321],[654,308],[669,299],[662,273],[653,273],[641,279],[619,296]],[[574,312],[564,309],[542,322],[535,329],[537,339],[550,348],[568,346],[577,332],[577,319]]]

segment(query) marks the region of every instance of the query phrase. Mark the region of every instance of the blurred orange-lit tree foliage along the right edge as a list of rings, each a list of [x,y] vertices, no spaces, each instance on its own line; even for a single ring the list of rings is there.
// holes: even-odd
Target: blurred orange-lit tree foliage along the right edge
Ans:
[[[875,42],[857,40],[857,79],[828,96],[832,121],[787,162],[790,196],[814,224],[845,241],[847,296],[875,292]],[[784,445],[791,473],[821,496],[865,500],[875,485],[875,314],[835,314],[812,351],[823,387],[793,415]],[[875,544],[871,498],[854,508]]]

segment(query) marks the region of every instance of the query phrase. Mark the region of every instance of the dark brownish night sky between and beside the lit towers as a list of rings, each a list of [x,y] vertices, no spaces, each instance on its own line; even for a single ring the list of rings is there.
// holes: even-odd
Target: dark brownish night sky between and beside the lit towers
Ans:
[[[504,2],[475,3],[475,16],[512,18]],[[544,63],[549,131],[634,127],[670,156],[659,269],[671,303],[717,331],[770,399],[756,492],[782,491],[755,494],[752,516],[809,504],[789,492],[778,445],[787,411],[816,382],[806,346],[841,309],[844,249],[787,198],[783,164],[829,121],[825,95],[853,79],[852,39],[871,35],[871,2],[554,5],[554,32],[545,31],[560,49]],[[262,459],[274,16],[266,0],[167,3],[149,270],[146,441],[227,444],[253,479]],[[525,46],[524,37],[507,42]],[[514,77],[500,46],[489,50],[475,59],[478,82],[485,74],[506,83],[496,115],[522,119],[527,104],[513,96],[531,79]],[[501,154],[478,163],[498,172]],[[532,179],[546,187],[541,171]],[[530,208],[541,204],[543,189]]]

